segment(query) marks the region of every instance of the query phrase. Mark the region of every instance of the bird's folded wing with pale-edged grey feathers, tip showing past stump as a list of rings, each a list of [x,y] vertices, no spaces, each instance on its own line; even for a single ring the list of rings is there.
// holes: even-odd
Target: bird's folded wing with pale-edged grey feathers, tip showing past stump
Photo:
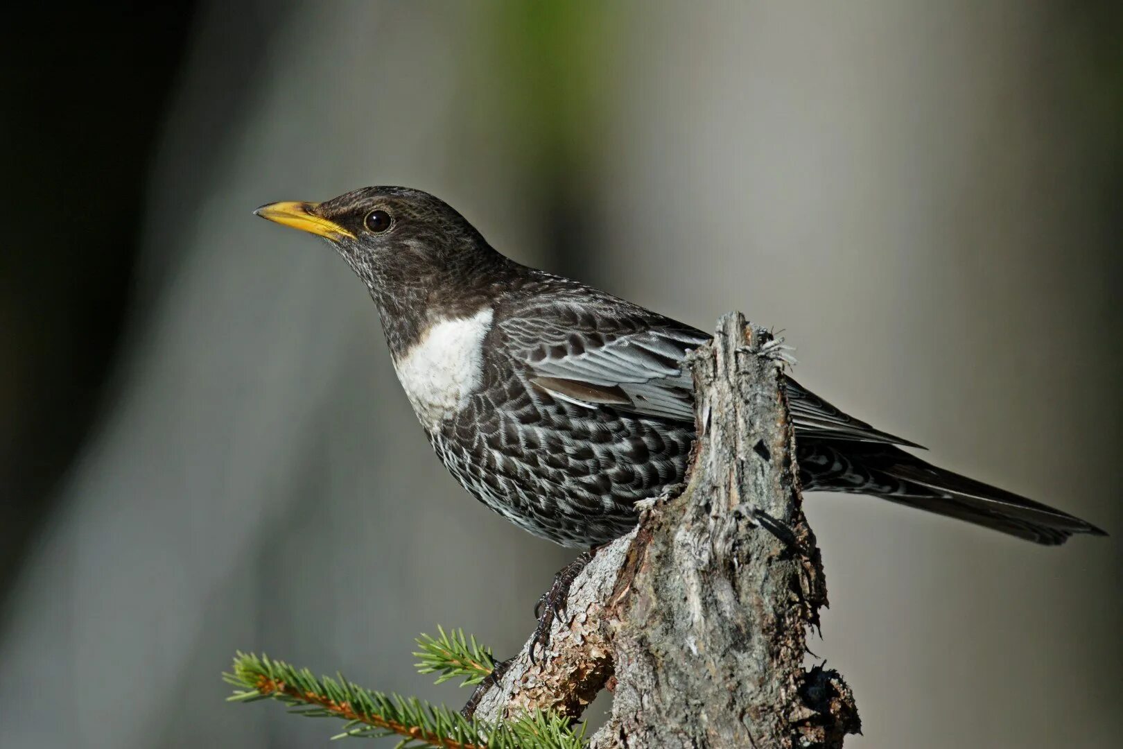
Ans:
[[[693,421],[693,382],[683,362],[711,336],[609,294],[581,292],[528,303],[499,321],[508,350],[533,372],[532,384],[588,408]],[[791,377],[785,383],[797,436],[920,447],[848,415]]]

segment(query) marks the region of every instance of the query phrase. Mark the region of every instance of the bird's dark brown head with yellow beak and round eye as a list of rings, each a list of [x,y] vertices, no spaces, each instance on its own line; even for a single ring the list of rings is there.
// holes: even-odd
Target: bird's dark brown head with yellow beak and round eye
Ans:
[[[323,237],[368,285],[456,275],[495,255],[448,203],[410,188],[363,188],[322,203],[268,203],[254,213]]]

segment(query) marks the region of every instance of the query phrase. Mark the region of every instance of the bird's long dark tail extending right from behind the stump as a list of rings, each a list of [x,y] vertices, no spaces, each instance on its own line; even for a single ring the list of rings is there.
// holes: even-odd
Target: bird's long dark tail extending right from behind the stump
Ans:
[[[1050,546],[1072,533],[1106,536],[1067,512],[938,468],[892,445],[814,438],[797,442],[806,491],[879,496]]]

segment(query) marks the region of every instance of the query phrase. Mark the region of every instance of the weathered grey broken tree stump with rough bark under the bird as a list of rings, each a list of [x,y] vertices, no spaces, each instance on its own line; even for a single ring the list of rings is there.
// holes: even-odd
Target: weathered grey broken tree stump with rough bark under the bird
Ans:
[[[476,714],[578,716],[613,692],[596,749],[841,747],[860,729],[834,672],[804,669],[827,587],[802,511],[772,336],[737,313],[691,358],[690,481],[643,509],[570,590],[546,652],[517,657]]]

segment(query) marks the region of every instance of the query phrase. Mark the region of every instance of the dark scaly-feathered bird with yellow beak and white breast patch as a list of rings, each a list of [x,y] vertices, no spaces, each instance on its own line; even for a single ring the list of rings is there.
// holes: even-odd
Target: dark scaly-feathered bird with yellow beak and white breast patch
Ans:
[[[374,298],[405,394],[441,463],[481,502],[564,546],[628,532],[683,481],[688,351],[710,336],[504,257],[442,201],[367,188],[263,218],[328,239]],[[786,381],[809,491],[870,494],[1038,544],[1103,535],[1060,510],[938,468],[915,445]]]

